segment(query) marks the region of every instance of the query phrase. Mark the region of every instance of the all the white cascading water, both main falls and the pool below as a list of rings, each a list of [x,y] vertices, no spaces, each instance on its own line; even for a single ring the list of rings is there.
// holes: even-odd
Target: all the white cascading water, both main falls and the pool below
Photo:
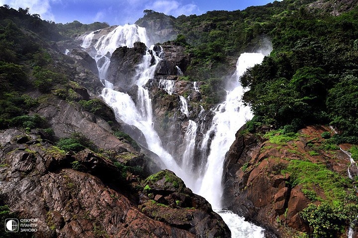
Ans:
[[[124,31],[121,29],[129,30]],[[141,32],[144,33],[141,34]],[[109,61],[107,52],[111,54],[119,46],[127,45],[131,47],[135,41],[147,43],[145,29],[141,29],[141,27],[135,25],[118,26],[110,33],[100,36],[97,40],[93,40],[95,34],[96,32],[91,32],[84,36],[82,46],[92,51],[91,56],[97,62],[100,79],[102,82],[105,82],[106,88],[103,89],[101,96],[114,110],[116,117],[127,124],[136,126],[143,132],[147,140],[148,149],[156,153],[161,158],[165,167],[173,170],[189,188],[195,193],[205,197],[212,204],[213,208],[221,214],[224,221],[228,224],[232,231],[233,238],[263,237],[262,228],[245,222],[243,218],[230,211],[221,210],[220,200],[222,197],[221,178],[225,153],[235,140],[235,132],[247,119],[251,119],[252,117],[249,108],[244,107],[241,102],[244,89],[238,83],[238,78],[246,68],[261,63],[264,55],[259,53],[244,53],[240,56],[235,74],[235,87],[228,91],[226,101],[214,110],[215,116],[202,142],[203,147],[207,146],[209,137],[211,138],[211,135],[215,134],[211,140],[210,153],[208,154],[207,161],[203,167],[200,168],[201,173],[193,173],[193,150],[198,125],[194,121],[188,120],[186,133],[184,135],[185,151],[182,155],[180,165],[174,160],[173,156],[163,148],[161,139],[153,128],[151,99],[144,85],[149,79],[153,78],[156,64],[161,60],[155,51],[148,50],[143,58],[143,62],[137,67],[137,74],[135,76],[135,83],[138,86],[137,105],[128,94],[114,91],[113,85],[105,80],[105,72],[109,65],[109,62],[107,62]],[[94,53],[93,48],[95,49]],[[153,54],[155,58],[154,64],[151,62],[151,54]],[[100,63],[103,57],[105,63]],[[174,81],[161,81],[159,85],[163,87],[168,94],[173,94]],[[196,82],[194,83],[194,90],[196,92],[199,91]],[[181,102],[180,111],[188,117],[187,101],[182,96],[179,96],[179,99]],[[199,116],[204,112],[202,108]]]

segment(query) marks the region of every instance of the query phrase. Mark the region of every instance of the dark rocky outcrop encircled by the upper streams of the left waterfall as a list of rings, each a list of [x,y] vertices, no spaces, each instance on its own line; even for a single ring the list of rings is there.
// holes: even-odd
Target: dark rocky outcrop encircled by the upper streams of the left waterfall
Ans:
[[[110,58],[107,80],[121,91],[129,90],[134,84],[135,67],[142,62],[146,48],[141,42],[135,42],[133,48],[126,46],[117,48]]]

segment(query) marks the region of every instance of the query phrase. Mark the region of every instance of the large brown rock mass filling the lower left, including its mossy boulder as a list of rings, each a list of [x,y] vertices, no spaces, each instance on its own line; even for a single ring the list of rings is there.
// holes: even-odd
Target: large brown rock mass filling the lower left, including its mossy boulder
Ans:
[[[138,176],[123,178],[89,149],[64,153],[37,130],[0,131],[0,145],[1,202],[20,218],[37,219],[36,238],[230,237],[210,205],[169,171],[171,181],[148,180],[153,200],[138,190]],[[171,208],[156,202],[161,196]]]

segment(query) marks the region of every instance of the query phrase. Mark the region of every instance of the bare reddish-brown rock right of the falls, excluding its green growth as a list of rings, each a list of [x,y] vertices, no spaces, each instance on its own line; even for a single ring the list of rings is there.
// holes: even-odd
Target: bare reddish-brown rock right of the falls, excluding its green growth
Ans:
[[[313,153],[308,146],[309,142],[322,143],[320,134],[329,130],[323,126],[306,127],[297,140],[277,145],[247,132],[243,126],[236,133],[224,162],[224,207],[277,237],[292,237],[297,231],[309,232],[310,228],[298,213],[312,201],[304,195],[301,185],[290,185],[289,173],[281,171],[294,159],[327,164],[332,171],[347,177],[350,159],[345,153],[335,150],[337,159],[332,160],[327,159],[332,157],[329,151]],[[320,187],[312,189],[318,196],[325,196]]]

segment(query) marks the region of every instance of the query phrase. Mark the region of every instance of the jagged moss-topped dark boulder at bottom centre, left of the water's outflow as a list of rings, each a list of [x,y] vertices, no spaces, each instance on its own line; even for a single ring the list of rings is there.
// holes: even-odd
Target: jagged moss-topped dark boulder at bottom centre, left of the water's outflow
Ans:
[[[154,197],[155,203],[149,199],[149,195]],[[212,211],[210,204],[193,194],[170,170],[162,170],[146,179],[140,209],[148,217],[165,221],[174,227],[186,228],[198,238],[231,237],[230,230],[221,217]],[[208,221],[212,219],[213,222],[209,224]]]

